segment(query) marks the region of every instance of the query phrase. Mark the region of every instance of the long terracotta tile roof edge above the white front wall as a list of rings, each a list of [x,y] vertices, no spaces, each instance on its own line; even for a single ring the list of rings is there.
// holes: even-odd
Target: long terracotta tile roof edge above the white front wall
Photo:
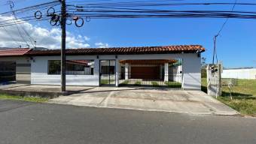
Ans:
[[[66,49],[66,55],[136,55],[136,54],[163,54],[163,53],[195,53],[204,52],[200,45],[181,46],[142,46],[142,47],[111,47],[111,48],[84,48]],[[31,50],[26,55],[60,55],[60,49]]]

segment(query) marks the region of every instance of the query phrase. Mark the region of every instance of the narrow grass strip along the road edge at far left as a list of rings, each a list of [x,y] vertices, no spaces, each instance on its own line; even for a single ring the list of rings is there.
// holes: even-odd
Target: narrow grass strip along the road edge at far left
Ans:
[[[30,101],[42,103],[48,101],[48,98],[38,98],[38,97],[20,97],[14,95],[2,95],[0,94],[0,100],[17,100],[17,101]]]

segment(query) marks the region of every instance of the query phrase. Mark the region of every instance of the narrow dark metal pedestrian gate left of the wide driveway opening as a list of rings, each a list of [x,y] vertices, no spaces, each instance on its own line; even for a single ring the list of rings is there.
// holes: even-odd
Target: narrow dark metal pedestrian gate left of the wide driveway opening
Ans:
[[[115,60],[100,60],[99,68],[100,86],[115,86]]]

